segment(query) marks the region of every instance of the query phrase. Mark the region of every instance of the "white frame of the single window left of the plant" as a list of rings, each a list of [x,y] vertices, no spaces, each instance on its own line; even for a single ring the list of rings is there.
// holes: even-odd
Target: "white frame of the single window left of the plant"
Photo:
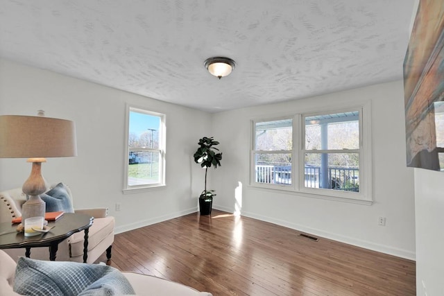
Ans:
[[[155,153],[159,153],[159,177],[160,182],[152,183],[152,184],[142,184],[142,185],[128,185],[128,155],[130,153],[130,148],[128,145],[129,141],[129,128],[130,128],[130,112],[138,112],[143,113],[151,116],[158,116],[160,117],[160,128],[159,128],[159,148],[142,148],[139,147],[137,150],[144,150],[144,151],[152,151]],[[125,124],[125,155],[123,157],[124,160],[124,179],[123,179],[123,193],[135,193],[139,191],[147,191],[151,189],[157,189],[159,187],[166,186],[165,182],[165,164],[166,164],[166,139],[167,139],[167,116],[165,114],[162,114],[160,112],[153,112],[151,110],[146,110],[143,107],[136,107],[133,105],[126,105],[126,124]]]

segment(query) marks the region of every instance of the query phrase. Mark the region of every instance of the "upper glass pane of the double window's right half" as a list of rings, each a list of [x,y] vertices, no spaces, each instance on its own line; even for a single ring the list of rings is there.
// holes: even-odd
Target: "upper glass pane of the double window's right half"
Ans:
[[[305,117],[305,149],[359,149],[359,112]]]

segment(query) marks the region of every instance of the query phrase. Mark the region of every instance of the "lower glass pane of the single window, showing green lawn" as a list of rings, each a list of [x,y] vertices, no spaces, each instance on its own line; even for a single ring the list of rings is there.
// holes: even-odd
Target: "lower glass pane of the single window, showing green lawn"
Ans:
[[[128,161],[128,186],[160,183],[160,152],[131,150]]]

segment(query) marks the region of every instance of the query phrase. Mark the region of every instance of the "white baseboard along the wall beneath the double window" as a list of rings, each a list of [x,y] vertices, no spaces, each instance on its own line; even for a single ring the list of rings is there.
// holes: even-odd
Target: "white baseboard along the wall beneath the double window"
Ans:
[[[214,205],[214,204],[213,204],[213,209],[219,209],[221,211],[227,211],[229,213],[233,213],[233,209],[229,209],[228,207],[221,207],[221,206]],[[339,241],[341,243],[347,243],[349,245],[355,245],[357,247],[364,247],[365,249],[368,249],[368,250],[373,250],[376,252],[381,252],[384,254],[389,254],[389,255],[398,256],[398,257],[401,257],[404,259],[416,261],[415,252],[411,252],[409,250],[399,249],[397,247],[391,247],[388,245],[381,245],[378,243],[372,243],[370,241],[363,241],[363,240],[360,240],[357,238],[343,236],[341,234],[334,234],[331,232],[325,232],[320,229],[308,227],[307,225],[300,225],[300,224],[296,224],[296,223],[291,223],[286,220],[280,220],[280,219],[276,219],[276,218],[261,216],[261,215],[257,215],[254,213],[250,213],[248,211],[242,211],[241,216],[255,218],[257,220],[262,220],[262,221],[273,223],[273,224],[280,225],[283,227],[295,229],[295,230],[298,230],[299,232],[305,232],[307,234],[312,234],[314,236],[321,236],[323,238],[328,238],[333,241]]]

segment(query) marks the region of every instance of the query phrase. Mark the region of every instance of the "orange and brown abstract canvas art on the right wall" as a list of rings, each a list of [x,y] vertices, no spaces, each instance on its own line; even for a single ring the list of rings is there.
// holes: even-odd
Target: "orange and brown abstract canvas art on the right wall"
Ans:
[[[420,0],[404,59],[407,166],[444,171],[444,1]]]

